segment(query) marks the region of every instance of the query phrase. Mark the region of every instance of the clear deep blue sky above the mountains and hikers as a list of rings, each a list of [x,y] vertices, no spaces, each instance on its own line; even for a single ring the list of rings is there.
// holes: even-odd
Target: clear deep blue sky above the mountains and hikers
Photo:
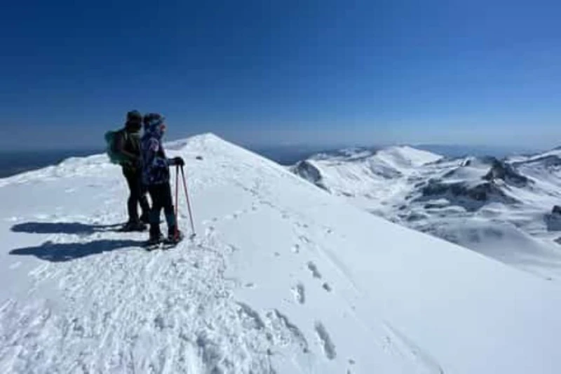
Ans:
[[[2,149],[129,109],[244,145],[561,145],[560,1],[12,1]]]

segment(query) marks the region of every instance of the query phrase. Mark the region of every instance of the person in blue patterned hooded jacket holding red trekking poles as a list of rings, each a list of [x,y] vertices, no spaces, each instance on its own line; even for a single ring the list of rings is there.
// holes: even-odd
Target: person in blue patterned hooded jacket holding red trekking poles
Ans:
[[[150,113],[144,116],[144,135],[142,136],[142,180],[148,188],[152,200],[150,212],[149,244],[158,243],[162,238],[160,215],[163,209],[168,224],[168,241],[179,241],[182,233],[177,229],[177,218],[173,211],[170,187],[170,166],[183,166],[181,157],[168,159],[162,145],[165,132],[163,116]]]

